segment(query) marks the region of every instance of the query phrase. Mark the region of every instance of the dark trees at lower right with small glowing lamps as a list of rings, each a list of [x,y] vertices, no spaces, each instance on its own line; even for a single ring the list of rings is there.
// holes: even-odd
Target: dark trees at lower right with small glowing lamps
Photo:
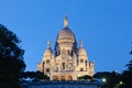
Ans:
[[[130,52],[132,55],[132,51]],[[101,72],[95,74],[94,78],[102,79],[102,88],[132,88],[132,59],[125,65],[127,69],[122,74],[116,72]]]

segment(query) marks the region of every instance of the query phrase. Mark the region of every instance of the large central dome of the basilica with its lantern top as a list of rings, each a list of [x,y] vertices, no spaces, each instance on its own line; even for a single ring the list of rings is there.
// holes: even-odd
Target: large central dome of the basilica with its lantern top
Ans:
[[[57,40],[73,40],[75,41],[75,35],[72,30],[68,28],[68,18],[64,19],[64,28],[58,33]]]

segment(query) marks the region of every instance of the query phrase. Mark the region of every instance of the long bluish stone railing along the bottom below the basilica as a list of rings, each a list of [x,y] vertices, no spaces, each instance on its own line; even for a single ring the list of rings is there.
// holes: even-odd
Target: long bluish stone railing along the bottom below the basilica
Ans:
[[[24,81],[21,88],[101,88],[99,81]]]

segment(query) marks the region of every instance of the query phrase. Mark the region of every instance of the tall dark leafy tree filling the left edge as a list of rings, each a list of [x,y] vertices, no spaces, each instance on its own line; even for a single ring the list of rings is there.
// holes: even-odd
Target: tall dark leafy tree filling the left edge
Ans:
[[[24,51],[18,36],[0,24],[0,88],[19,88],[20,73],[24,70]]]

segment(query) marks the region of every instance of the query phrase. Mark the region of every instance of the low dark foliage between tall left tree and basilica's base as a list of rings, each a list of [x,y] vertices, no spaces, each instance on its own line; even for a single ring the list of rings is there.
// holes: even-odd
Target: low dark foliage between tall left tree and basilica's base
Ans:
[[[42,72],[24,72],[21,74],[23,79],[30,79],[30,80],[50,80],[50,77],[47,75],[44,75]]]

